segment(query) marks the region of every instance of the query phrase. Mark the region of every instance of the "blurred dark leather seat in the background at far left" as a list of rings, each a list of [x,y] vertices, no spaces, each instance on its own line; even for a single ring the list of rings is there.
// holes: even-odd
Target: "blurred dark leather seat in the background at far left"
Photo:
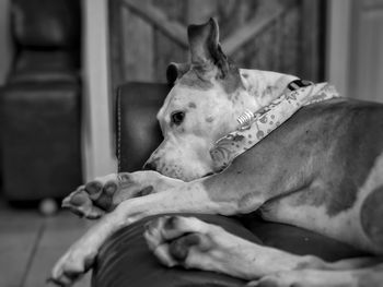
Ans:
[[[61,199],[81,184],[80,0],[12,0],[15,57],[1,89],[3,192]]]

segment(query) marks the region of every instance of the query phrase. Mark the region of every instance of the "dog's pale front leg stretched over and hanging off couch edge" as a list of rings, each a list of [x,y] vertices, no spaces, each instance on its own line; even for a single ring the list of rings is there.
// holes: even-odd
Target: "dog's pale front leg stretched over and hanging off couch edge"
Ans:
[[[230,190],[230,187],[227,187]],[[231,193],[233,194],[233,193]],[[235,194],[235,193],[234,193]],[[262,201],[254,202],[254,208]],[[70,286],[93,264],[98,249],[113,232],[146,216],[162,213],[237,214],[239,201],[224,190],[209,190],[204,180],[178,182],[177,188],[121,202],[77,241],[55,265],[51,280]]]

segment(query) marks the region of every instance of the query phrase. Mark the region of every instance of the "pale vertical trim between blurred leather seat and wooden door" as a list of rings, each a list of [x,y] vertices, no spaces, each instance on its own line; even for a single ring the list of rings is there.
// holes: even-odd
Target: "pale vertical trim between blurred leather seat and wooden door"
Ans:
[[[107,0],[83,0],[83,156],[85,180],[117,171],[108,83]]]

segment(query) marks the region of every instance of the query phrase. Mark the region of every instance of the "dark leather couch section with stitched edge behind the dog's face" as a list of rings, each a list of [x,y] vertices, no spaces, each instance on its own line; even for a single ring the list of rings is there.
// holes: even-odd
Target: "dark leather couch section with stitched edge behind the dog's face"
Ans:
[[[116,152],[119,171],[142,169],[162,141],[156,121],[170,87],[159,83],[127,83],[117,91]]]

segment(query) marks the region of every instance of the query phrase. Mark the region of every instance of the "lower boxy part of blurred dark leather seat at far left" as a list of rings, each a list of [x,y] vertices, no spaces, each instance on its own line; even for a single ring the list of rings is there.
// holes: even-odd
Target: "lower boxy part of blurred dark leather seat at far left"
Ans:
[[[82,182],[79,85],[8,85],[1,94],[9,201],[61,199]]]

